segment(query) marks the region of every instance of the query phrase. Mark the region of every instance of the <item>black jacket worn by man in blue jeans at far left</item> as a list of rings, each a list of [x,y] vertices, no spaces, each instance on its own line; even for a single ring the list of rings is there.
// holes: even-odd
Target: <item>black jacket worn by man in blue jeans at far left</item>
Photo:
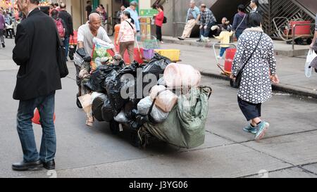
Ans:
[[[29,100],[61,89],[57,29],[54,21],[39,9],[18,25],[13,60],[20,66],[14,99]]]

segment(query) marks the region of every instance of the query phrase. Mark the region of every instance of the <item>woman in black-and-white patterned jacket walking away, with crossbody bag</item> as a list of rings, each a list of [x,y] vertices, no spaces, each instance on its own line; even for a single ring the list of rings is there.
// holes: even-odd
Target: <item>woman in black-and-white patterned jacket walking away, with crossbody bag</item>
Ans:
[[[261,103],[272,96],[271,82],[279,82],[273,41],[263,32],[261,21],[262,16],[259,13],[249,15],[250,28],[244,30],[240,36],[231,75],[235,79],[242,70],[238,103],[247,121],[251,121],[244,127],[244,131],[255,134],[256,140],[262,139],[269,127],[268,122],[261,120]]]

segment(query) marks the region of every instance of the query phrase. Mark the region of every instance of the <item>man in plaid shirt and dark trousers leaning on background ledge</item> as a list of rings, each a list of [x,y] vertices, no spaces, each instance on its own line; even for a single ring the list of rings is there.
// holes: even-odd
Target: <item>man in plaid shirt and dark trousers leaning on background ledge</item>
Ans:
[[[200,11],[200,36],[197,40],[198,42],[202,42],[204,39],[207,39],[206,41],[208,41],[211,26],[215,25],[217,22],[215,15],[213,15],[209,8],[206,8],[206,4],[201,4]]]

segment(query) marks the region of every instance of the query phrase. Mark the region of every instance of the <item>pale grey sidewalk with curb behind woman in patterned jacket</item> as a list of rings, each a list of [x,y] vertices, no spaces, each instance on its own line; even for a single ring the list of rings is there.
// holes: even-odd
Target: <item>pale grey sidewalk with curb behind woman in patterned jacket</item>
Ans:
[[[170,44],[168,43],[170,42],[170,38],[171,37],[163,37],[163,41],[166,43],[161,44],[161,49],[180,49],[180,59],[182,60],[180,63],[193,65],[201,71],[202,75],[228,79],[228,77],[220,75],[220,69],[216,65],[216,56],[213,53],[213,49],[211,49],[211,44],[213,42],[197,43],[194,39],[179,41],[174,38],[173,42],[178,44]],[[201,46],[197,46],[196,43],[201,44]],[[280,44],[280,42],[275,43],[275,46],[280,46]],[[219,50],[216,50],[217,53],[218,51]],[[304,65],[306,58],[291,58],[280,55],[275,56],[275,58],[277,60],[277,71],[280,77],[280,84],[273,85],[273,89],[290,94],[317,98],[317,73],[313,72],[311,78],[305,77]],[[220,60],[220,63],[223,64],[224,60]]]

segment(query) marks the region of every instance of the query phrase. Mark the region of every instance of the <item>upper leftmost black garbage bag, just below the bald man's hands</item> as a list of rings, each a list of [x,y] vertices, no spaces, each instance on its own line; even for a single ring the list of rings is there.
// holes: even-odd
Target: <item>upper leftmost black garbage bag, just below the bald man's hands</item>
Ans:
[[[113,65],[99,66],[99,68],[92,73],[89,81],[84,85],[94,92],[105,93],[106,89],[104,89],[104,81],[108,74],[113,70],[118,69]]]

